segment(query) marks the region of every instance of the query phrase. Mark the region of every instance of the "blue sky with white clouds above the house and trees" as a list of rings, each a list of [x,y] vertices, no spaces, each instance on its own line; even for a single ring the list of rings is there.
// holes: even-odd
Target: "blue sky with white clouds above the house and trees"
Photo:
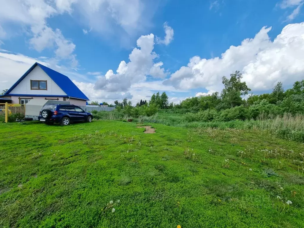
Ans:
[[[0,89],[35,61],[108,102],[158,90],[177,102],[220,91],[235,70],[254,93],[289,88],[304,75],[303,2],[2,1]]]

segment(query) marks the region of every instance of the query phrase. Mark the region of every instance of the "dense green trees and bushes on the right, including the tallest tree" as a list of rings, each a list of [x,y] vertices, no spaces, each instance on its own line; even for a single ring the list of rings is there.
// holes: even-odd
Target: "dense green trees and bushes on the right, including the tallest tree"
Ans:
[[[304,114],[304,80],[296,81],[293,87],[283,88],[282,82],[273,87],[271,93],[261,95],[251,94],[250,88],[242,82],[239,71],[230,74],[230,79],[223,77],[224,88],[219,94],[187,98],[174,108],[188,110],[187,121],[230,121],[235,119],[257,119],[261,116],[273,118],[278,115]]]

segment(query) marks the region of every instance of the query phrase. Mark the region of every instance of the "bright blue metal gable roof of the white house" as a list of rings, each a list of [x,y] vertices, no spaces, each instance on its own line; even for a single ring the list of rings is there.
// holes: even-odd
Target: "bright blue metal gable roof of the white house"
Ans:
[[[70,78],[68,78],[64,74],[60,74],[59,72],[52,70],[49,67],[43,66],[40,63],[35,63],[31,68],[29,68],[29,70],[26,71],[25,74],[23,74],[22,77],[19,78],[19,80],[16,81],[16,83],[3,96],[12,95],[12,94],[9,94],[9,93],[37,65],[41,67],[41,69],[67,94],[68,97],[83,99],[83,100],[87,100],[87,101],[89,100],[89,98],[87,98],[87,96],[83,92],[81,92],[81,90],[71,81]],[[20,95],[20,94],[18,94],[18,95]],[[26,95],[26,96],[29,96],[29,95]],[[39,95],[39,96],[48,96],[49,97],[50,95]],[[60,95],[60,97],[63,97],[63,96]]]

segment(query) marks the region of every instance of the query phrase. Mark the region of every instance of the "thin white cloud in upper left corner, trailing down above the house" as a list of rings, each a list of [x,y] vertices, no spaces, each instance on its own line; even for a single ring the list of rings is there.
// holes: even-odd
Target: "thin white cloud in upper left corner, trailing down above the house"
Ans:
[[[57,2],[63,1],[57,0]],[[73,67],[78,65],[76,55],[72,54],[75,44],[65,39],[59,29],[52,29],[47,25],[47,19],[60,13],[49,1],[43,0],[10,0],[2,1],[0,7],[0,23],[2,30],[11,24],[26,26],[30,29],[32,38],[29,40],[31,47],[37,51],[46,48],[55,48],[57,60],[71,60]]]

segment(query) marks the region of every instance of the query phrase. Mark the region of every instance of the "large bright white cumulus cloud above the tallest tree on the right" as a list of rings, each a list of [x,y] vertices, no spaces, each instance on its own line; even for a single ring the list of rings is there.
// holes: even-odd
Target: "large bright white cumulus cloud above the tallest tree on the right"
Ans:
[[[285,26],[273,41],[268,36],[270,29],[263,27],[254,38],[243,40],[237,47],[231,46],[221,57],[192,57],[187,66],[171,74],[164,84],[220,91],[221,78],[239,70],[254,91],[269,90],[278,81],[291,86],[303,79],[304,22]]]

